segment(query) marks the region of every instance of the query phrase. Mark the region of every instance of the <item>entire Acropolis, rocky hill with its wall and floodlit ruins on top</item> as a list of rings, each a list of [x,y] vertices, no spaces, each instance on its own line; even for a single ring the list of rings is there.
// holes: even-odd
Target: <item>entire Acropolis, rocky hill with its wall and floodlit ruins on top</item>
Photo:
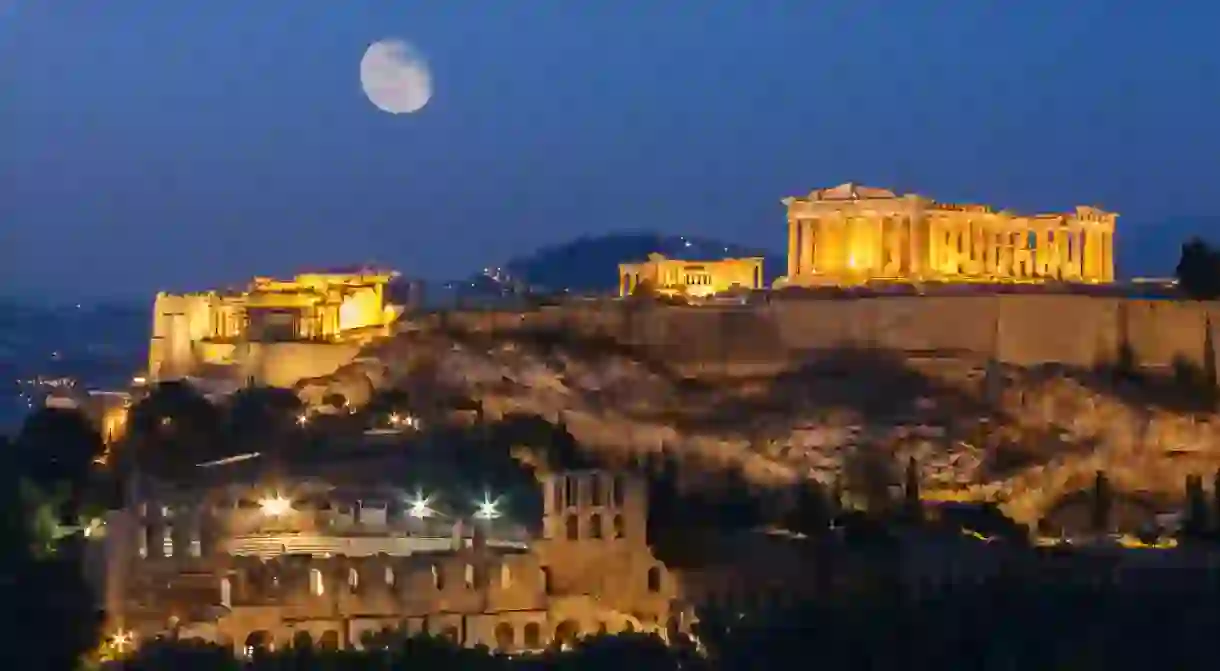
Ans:
[[[331,298],[300,301],[299,323],[332,305],[359,328],[340,317],[309,338],[255,339],[217,338],[204,321],[215,312],[161,296],[150,371],[254,378],[318,404],[444,390],[436,395],[473,399],[484,416],[561,421],[608,458],[673,450],[760,484],[852,477],[861,451],[915,456],[928,495],[1000,501],[1022,521],[1098,468],[1159,505],[1180,498],[1187,473],[1220,467],[1220,422],[1199,403],[1215,387],[1220,306],[1108,289],[1113,214],[1017,217],[852,184],[787,203],[789,274],[758,299],[399,316],[367,298],[384,295],[370,289],[382,276],[357,273],[303,287]],[[715,261],[655,288],[715,284],[699,276]],[[806,288],[826,285],[865,288]],[[366,292],[365,307],[345,312],[345,292]],[[270,301],[256,293],[246,305]]]

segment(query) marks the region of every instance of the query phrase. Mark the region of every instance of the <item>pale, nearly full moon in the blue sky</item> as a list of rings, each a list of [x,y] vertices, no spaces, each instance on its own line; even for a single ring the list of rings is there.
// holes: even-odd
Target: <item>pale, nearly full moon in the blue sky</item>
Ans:
[[[432,99],[432,73],[401,39],[375,41],[360,59],[360,85],[368,101],[392,115],[417,112]]]

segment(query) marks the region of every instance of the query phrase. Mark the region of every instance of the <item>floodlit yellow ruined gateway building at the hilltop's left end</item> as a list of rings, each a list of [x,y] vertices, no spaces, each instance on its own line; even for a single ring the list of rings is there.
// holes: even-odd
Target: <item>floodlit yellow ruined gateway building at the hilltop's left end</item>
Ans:
[[[360,344],[388,333],[403,314],[388,296],[396,277],[356,268],[292,279],[256,277],[239,290],[160,293],[152,309],[148,382],[218,375],[290,386],[327,375],[350,361]],[[266,360],[285,370],[268,373],[262,370]]]

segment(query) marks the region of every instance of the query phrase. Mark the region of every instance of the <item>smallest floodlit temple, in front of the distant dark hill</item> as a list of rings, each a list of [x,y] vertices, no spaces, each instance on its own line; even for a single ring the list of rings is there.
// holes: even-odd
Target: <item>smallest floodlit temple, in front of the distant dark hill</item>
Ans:
[[[647,261],[619,265],[619,295],[639,287],[659,295],[706,298],[731,289],[762,288],[762,257],[683,261],[649,254]]]

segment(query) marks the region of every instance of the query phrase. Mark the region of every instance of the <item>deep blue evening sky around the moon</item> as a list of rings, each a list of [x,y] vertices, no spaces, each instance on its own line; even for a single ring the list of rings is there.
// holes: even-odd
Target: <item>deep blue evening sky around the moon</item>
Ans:
[[[442,278],[615,229],[778,250],[778,199],[848,179],[1128,231],[1207,214],[1213,5],[0,1],[0,283]],[[360,92],[384,37],[432,65],[417,115]]]

